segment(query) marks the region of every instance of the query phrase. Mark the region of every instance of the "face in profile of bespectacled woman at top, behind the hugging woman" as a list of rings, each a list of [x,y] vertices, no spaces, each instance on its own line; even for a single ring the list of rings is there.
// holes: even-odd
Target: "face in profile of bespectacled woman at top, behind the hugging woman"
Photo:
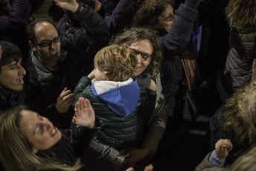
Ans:
[[[168,4],[164,12],[162,12],[157,19],[159,19],[157,27],[169,33],[174,19],[173,7]]]

